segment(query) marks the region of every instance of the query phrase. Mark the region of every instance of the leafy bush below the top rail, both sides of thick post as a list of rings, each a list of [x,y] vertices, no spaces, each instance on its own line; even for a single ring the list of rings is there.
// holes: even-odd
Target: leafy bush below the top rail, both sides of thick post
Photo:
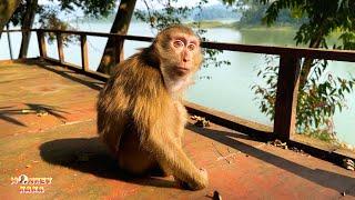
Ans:
[[[260,101],[260,110],[271,120],[275,117],[275,100],[278,64],[277,57],[266,56],[265,66],[257,71],[262,83],[254,84],[252,90]],[[297,120],[298,133],[318,136],[324,140],[334,138],[333,116],[345,104],[345,93],[354,89],[355,78],[349,80],[326,73],[326,61],[316,60],[312,74],[303,90],[298,90]],[[327,133],[328,136],[325,136]]]

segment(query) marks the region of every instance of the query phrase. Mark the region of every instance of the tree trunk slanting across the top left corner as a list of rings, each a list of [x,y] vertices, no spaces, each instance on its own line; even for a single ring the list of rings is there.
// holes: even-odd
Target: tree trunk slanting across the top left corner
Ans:
[[[21,0],[0,0],[0,39],[2,33],[1,31],[9,22],[20,2]]]

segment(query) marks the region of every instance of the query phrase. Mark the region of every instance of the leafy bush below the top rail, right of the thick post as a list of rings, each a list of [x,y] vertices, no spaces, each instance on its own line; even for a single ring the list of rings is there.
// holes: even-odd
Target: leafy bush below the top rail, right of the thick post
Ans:
[[[298,132],[326,129],[332,134],[333,116],[336,109],[342,111],[346,106],[344,94],[353,91],[355,79],[347,80],[325,73],[327,62],[316,61],[306,84],[298,91],[297,128]]]

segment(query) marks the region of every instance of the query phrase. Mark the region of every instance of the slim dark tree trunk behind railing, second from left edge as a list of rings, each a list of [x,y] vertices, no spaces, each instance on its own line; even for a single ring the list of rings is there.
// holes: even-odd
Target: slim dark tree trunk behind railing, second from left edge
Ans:
[[[32,28],[37,7],[38,7],[38,0],[27,0],[26,13],[22,21],[22,29],[29,30]],[[19,58],[27,58],[30,39],[31,39],[31,32],[23,31]]]

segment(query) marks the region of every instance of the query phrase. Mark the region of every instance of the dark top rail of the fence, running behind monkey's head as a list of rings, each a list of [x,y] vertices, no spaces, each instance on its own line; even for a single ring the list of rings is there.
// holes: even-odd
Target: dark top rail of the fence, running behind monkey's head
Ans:
[[[115,34],[115,33],[89,32],[89,31],[31,29],[31,31],[38,31],[38,30],[43,32],[87,34],[87,36],[94,36],[94,37],[119,37],[125,40],[136,40],[136,41],[146,41],[146,42],[153,41],[153,38],[151,37],[141,37],[141,36],[122,36],[122,34]],[[7,31],[8,30],[4,30],[3,32],[7,32]],[[14,31],[22,31],[22,30],[9,30],[9,31],[14,32]],[[278,56],[292,54],[293,57],[297,57],[297,58],[314,58],[314,59],[355,62],[355,51],[349,51],[349,50],[252,46],[252,44],[237,44],[237,43],[224,43],[224,42],[202,42],[202,47],[209,48],[209,49],[216,49],[216,50],[229,50],[229,51],[263,53],[263,54],[278,54]]]

